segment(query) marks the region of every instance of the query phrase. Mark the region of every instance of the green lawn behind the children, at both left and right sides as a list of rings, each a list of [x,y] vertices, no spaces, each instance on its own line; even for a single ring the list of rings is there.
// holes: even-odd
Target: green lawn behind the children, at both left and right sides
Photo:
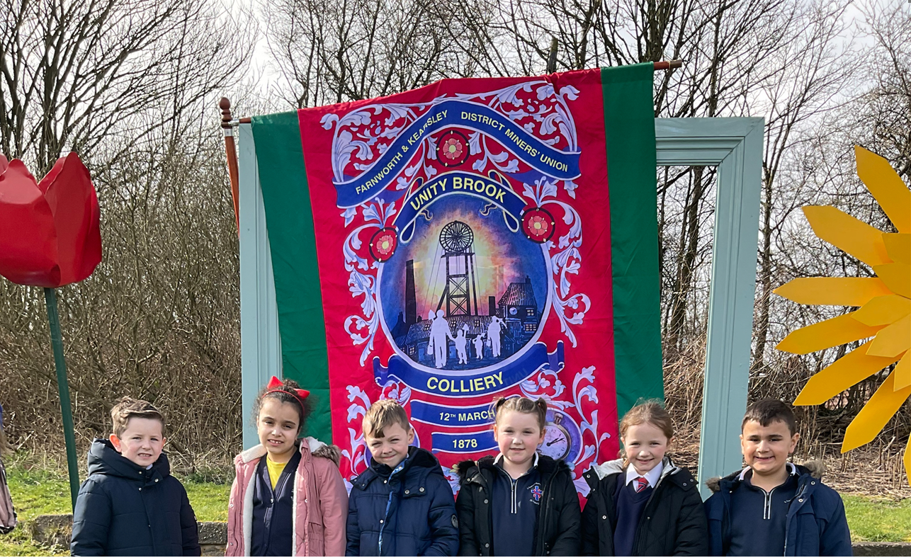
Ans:
[[[0,556],[67,555],[64,548],[36,545],[27,533],[27,524],[37,515],[70,512],[66,475],[28,469],[22,462],[10,464],[6,473],[19,525],[13,533],[0,536]],[[227,521],[230,484],[197,482],[188,478],[180,478],[180,481],[187,488],[197,519],[201,522]],[[853,541],[911,543],[911,499],[896,502],[855,495],[845,495],[843,499]]]

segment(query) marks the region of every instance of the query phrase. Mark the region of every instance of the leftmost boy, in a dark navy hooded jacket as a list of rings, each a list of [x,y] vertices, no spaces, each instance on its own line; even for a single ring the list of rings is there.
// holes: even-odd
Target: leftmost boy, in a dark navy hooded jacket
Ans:
[[[148,401],[123,397],[113,433],[88,451],[88,478],[73,512],[74,556],[199,556],[187,491],[170,476],[165,420]]]

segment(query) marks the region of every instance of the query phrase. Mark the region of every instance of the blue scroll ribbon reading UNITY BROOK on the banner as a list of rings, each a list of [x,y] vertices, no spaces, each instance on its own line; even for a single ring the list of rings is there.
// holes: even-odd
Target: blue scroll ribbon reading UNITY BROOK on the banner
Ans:
[[[468,172],[447,172],[427,182],[405,199],[394,227],[401,232],[399,238],[407,244],[415,234],[415,219],[437,200],[461,194],[481,198],[497,208],[503,209],[507,227],[518,231],[519,218],[526,206],[525,198],[517,195],[512,188],[499,181]]]

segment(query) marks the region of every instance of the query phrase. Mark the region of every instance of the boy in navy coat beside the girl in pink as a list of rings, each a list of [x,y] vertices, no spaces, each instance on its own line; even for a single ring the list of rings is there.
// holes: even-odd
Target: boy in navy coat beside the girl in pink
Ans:
[[[363,417],[370,468],[352,481],[348,556],[455,556],[455,498],[434,454],[412,446],[415,431],[393,400]]]

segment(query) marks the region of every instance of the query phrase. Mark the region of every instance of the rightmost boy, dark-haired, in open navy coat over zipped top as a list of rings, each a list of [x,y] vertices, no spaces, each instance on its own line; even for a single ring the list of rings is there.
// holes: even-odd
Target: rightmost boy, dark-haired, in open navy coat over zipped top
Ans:
[[[809,467],[821,463],[788,461],[800,439],[791,408],[756,401],[741,432],[746,467],[708,482],[715,492],[705,502],[711,555],[850,556],[842,499]]]

